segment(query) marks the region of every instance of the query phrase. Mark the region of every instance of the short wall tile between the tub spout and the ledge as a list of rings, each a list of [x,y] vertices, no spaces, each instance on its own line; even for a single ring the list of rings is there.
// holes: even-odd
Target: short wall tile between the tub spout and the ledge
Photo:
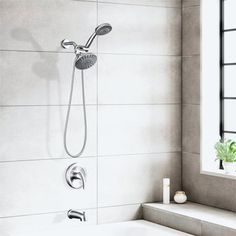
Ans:
[[[98,208],[98,223],[130,221],[142,218],[141,204]]]

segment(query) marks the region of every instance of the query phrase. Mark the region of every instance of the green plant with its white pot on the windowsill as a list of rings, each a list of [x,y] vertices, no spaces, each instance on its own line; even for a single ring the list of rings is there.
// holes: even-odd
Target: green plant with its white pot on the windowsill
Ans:
[[[219,141],[215,144],[216,160],[222,160],[227,174],[235,173],[236,170],[236,142],[230,139]]]

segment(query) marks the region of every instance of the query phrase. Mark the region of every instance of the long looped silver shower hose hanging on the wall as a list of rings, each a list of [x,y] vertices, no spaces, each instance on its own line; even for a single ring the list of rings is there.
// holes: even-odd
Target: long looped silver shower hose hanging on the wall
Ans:
[[[65,148],[66,153],[73,158],[80,157],[82,155],[84,148],[86,146],[86,142],[87,142],[87,116],[86,116],[86,105],[85,105],[84,71],[81,70],[83,116],[84,116],[84,141],[83,141],[83,146],[80,149],[80,151],[75,154],[72,154],[69,151],[68,146],[67,146],[67,133],[68,133],[68,124],[69,124],[69,119],[70,119],[71,103],[72,103],[73,90],[74,90],[76,60],[77,59],[75,58],[74,65],[73,65],[73,71],[72,71],[72,77],[71,77],[70,95],[69,95],[69,102],[68,102],[68,107],[67,107],[66,121],[65,121],[65,128],[64,128],[64,148]]]

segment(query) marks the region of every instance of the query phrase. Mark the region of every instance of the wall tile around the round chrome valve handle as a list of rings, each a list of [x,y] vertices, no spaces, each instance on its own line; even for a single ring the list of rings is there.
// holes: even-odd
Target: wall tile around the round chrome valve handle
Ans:
[[[86,170],[85,190],[66,183],[75,162]],[[0,179],[0,217],[96,207],[95,158],[1,163]]]

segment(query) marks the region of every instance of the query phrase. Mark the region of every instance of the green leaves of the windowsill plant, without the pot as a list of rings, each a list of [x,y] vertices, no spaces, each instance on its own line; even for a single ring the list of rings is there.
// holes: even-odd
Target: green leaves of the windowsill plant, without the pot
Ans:
[[[216,160],[236,162],[236,142],[230,139],[219,141],[215,144]]]

